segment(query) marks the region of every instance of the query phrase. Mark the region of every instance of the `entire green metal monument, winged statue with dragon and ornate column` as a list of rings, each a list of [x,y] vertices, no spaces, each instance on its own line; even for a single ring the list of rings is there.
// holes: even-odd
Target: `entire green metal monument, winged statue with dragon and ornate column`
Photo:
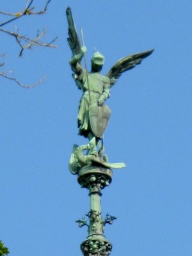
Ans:
[[[101,191],[111,184],[113,175],[111,169],[123,168],[125,164],[109,163],[108,156],[104,154],[104,147],[100,143],[111,115],[111,110],[106,106],[106,100],[110,97],[112,86],[122,73],[136,67],[154,49],[121,58],[105,76],[101,74],[104,56],[100,52],[95,52],[91,60],[92,69],[88,72],[85,58],[85,68],[81,65],[86,52],[83,31],[81,29],[83,40],[83,47],[81,47],[69,7],[66,12],[67,40],[72,50],[70,66],[74,81],[83,92],[79,102],[77,124],[79,135],[88,138],[87,144],[73,146],[69,161],[70,172],[77,175],[81,188],[88,189],[90,196],[90,210],[83,218],[76,221],[79,227],[88,227],[88,236],[81,243],[81,252],[84,256],[108,256],[111,253],[112,244],[104,236],[104,228],[106,224],[112,224],[116,217],[109,214],[102,217]]]

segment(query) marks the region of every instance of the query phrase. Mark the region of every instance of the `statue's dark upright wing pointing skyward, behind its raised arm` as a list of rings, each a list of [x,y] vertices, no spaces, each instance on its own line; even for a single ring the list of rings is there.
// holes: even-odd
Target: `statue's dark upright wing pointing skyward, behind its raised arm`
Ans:
[[[77,31],[76,31],[76,26],[74,24],[74,20],[72,17],[72,12],[70,7],[67,8],[66,10],[66,14],[67,14],[67,20],[68,20],[68,44],[70,46],[70,49],[72,51],[72,54],[79,54],[79,52],[81,51],[81,44],[77,35]]]

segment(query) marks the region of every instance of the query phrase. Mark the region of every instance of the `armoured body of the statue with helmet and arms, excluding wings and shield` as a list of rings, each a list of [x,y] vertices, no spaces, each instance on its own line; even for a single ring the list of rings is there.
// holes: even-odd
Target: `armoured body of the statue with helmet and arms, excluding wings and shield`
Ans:
[[[78,88],[83,91],[83,96],[79,102],[79,113],[77,116],[79,134],[92,140],[95,134],[92,125],[90,124],[90,106],[95,103],[100,107],[103,106],[105,100],[110,96],[110,87],[113,81],[112,79],[109,79],[109,77],[100,74],[100,70],[104,64],[104,56],[98,51],[92,56],[91,72],[88,73],[81,66],[81,59],[83,58],[85,51],[86,47],[81,47],[81,52],[72,57],[70,65],[74,71],[73,77],[76,84]],[[105,127],[103,127],[103,130],[104,129]],[[102,136],[102,132],[103,131],[101,131],[100,136]],[[96,135],[96,144],[99,137]]]

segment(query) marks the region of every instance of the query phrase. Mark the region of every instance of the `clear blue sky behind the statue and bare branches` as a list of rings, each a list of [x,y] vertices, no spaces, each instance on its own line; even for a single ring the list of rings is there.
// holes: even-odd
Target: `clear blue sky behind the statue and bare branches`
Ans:
[[[1,10],[17,12],[25,0],[1,1]],[[45,1],[35,1],[41,8]],[[18,57],[14,38],[1,34],[3,70],[14,69],[22,83],[47,74],[30,90],[0,77],[0,239],[10,256],[81,255],[86,228],[74,222],[89,210],[88,191],[68,171],[77,135],[81,91],[68,60],[65,10],[72,8],[83,27],[90,60],[104,54],[103,74],[126,55],[155,48],[140,66],[126,72],[111,90],[112,115],[105,134],[114,170],[102,195],[102,214],[118,217],[106,227],[111,255],[189,256],[192,184],[192,2],[51,1],[42,17],[15,24],[35,35],[47,26],[47,41],[59,36],[57,49],[34,48]],[[7,28],[14,29],[15,24]]]

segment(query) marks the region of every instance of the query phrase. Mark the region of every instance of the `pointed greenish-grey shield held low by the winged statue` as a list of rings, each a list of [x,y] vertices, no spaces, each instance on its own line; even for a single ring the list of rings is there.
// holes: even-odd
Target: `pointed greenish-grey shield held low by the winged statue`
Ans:
[[[102,138],[102,134],[104,134],[109,122],[111,110],[105,104],[98,106],[97,103],[93,103],[89,108],[89,115],[93,134],[98,138]]]

